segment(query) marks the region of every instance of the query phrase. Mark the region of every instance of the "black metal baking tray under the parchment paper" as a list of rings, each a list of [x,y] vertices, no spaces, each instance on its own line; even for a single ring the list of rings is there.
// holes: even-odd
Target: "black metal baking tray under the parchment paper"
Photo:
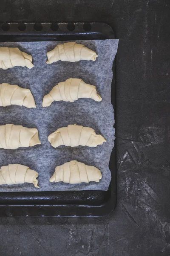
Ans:
[[[0,42],[114,38],[113,29],[105,23],[0,23]],[[114,61],[111,99],[116,119],[115,71]],[[108,191],[1,192],[0,217],[108,215],[116,207],[116,141],[109,168],[112,179]]]

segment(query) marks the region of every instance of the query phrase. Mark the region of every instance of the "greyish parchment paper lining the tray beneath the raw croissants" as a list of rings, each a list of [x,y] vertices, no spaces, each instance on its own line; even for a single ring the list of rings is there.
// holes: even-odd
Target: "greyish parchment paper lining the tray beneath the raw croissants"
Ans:
[[[29,109],[23,106],[11,105],[0,107],[0,125],[12,123],[28,128],[37,128],[41,145],[29,148],[0,149],[0,166],[20,163],[39,173],[40,189],[33,184],[1,185],[0,192],[11,191],[49,191],[49,190],[107,190],[111,181],[108,168],[110,155],[114,146],[114,113],[111,105],[111,82],[113,78],[112,65],[119,40],[81,40],[94,50],[99,57],[96,61],[79,61],[75,63],[58,61],[46,64],[46,53],[57,44],[64,42],[5,42],[0,47],[19,47],[31,54],[33,67],[14,67],[8,70],[0,69],[0,84],[17,84],[31,90],[37,108]],[[76,102],[53,102],[50,107],[42,108],[42,99],[61,81],[68,78],[79,78],[85,83],[96,86],[102,96],[102,102],[92,99],[78,99]],[[69,124],[83,125],[93,128],[96,134],[102,134],[107,140],[96,148],[66,147],[53,148],[47,137],[58,128]],[[87,165],[96,166],[102,172],[99,183],[51,183],[49,178],[55,167],[65,162],[77,160]]]

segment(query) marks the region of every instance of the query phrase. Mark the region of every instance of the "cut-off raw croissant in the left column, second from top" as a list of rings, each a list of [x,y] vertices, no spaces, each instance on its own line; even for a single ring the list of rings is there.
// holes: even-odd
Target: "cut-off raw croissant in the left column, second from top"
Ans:
[[[0,106],[10,105],[36,108],[34,97],[29,89],[23,89],[13,84],[0,84]]]

